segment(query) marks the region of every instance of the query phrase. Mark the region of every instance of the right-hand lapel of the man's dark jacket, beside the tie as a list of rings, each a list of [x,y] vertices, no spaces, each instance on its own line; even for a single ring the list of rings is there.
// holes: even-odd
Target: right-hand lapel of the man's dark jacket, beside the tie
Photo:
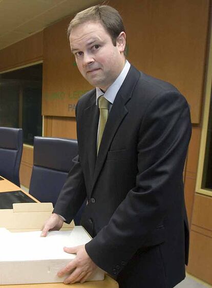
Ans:
[[[113,103],[108,121],[105,125],[104,132],[102,135],[98,157],[96,159],[92,190],[95,186],[99,173],[107,157],[108,151],[111,146],[111,142],[113,141],[116,131],[118,127],[121,125],[121,122],[123,121],[124,117],[128,114],[128,109],[126,108],[125,104],[130,100],[134,86],[137,83],[139,76],[140,76],[139,71],[137,71],[131,65],[130,71],[126,76],[123,84],[121,85],[119,92],[116,95],[115,101]]]

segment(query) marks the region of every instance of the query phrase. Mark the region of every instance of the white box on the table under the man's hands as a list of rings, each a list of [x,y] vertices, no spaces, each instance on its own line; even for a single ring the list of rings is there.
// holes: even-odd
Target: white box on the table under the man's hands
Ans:
[[[69,231],[52,231],[40,237],[40,231],[11,233],[0,229],[0,284],[58,283],[67,277],[57,272],[76,255],[63,247],[84,245],[89,234],[77,226]],[[103,280],[104,272],[97,269],[90,281]]]

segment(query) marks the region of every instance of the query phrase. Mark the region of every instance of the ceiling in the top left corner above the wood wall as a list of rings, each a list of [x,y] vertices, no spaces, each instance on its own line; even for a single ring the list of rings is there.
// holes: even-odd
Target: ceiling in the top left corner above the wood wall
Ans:
[[[97,0],[0,0],[0,50]]]

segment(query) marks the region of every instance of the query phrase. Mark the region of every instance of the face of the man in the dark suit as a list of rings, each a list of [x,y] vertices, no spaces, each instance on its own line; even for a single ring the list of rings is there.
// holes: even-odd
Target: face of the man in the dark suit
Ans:
[[[125,64],[125,33],[120,33],[114,46],[101,23],[88,21],[73,28],[69,40],[82,76],[91,85],[107,90]]]

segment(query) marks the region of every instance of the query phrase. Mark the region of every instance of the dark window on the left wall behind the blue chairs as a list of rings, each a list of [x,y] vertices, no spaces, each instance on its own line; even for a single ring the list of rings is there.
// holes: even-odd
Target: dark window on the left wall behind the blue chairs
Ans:
[[[24,143],[42,136],[42,64],[0,75],[0,126],[23,128]]]

